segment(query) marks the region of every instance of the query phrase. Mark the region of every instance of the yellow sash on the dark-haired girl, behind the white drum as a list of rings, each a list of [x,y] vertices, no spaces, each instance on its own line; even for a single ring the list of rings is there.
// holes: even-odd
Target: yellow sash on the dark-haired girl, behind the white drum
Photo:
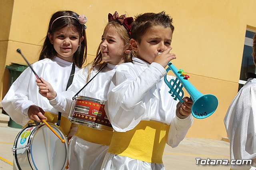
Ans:
[[[47,117],[46,122],[47,123],[57,123],[58,121],[58,115],[50,113],[50,112],[45,112],[44,116]],[[28,121],[28,123],[33,123],[34,121]],[[27,123],[27,125],[28,125]],[[25,125],[25,127],[27,126]],[[66,118],[66,117],[61,117],[60,120],[60,130],[62,130],[62,132],[68,136],[69,130],[71,127],[71,122]]]

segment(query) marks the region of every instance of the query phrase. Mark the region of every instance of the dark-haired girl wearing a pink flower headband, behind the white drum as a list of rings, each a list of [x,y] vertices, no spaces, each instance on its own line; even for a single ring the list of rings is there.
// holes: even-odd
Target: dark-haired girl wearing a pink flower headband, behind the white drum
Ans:
[[[31,65],[38,75],[52,83],[58,93],[68,89],[74,74],[86,60],[86,21],[84,15],[79,16],[73,11],[55,12],[50,19],[39,60]],[[37,91],[34,73],[27,68],[2,100],[4,110],[23,126],[29,121],[47,119],[47,122],[56,123],[58,120],[60,129],[71,137],[74,131],[70,130],[68,115],[59,113]]]

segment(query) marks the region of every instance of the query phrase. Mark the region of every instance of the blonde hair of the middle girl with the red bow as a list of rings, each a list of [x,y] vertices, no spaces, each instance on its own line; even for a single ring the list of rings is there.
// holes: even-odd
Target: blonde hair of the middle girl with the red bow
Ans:
[[[112,27],[114,28],[114,30],[116,31],[116,33],[120,36],[120,38],[122,39],[122,41],[124,42],[124,47],[127,47],[129,48],[130,46],[130,34],[129,32],[126,30],[126,28],[124,28],[124,26],[122,26],[120,23],[116,22],[116,21],[112,21],[112,22],[108,22],[108,24],[106,25],[106,27],[104,28],[104,33],[108,31],[108,29]],[[104,34],[103,33],[103,34]],[[101,43],[100,43],[101,44]],[[129,54],[126,54],[126,57],[124,59],[124,62],[132,62],[132,53],[130,52]],[[105,63],[103,60],[102,60],[102,54],[101,54],[101,51],[100,51],[100,45],[98,46],[98,49],[97,49],[97,52],[96,52],[96,57],[94,58],[94,60],[89,63],[88,65],[88,76],[87,76],[87,81],[88,81],[88,78],[89,78],[89,74],[90,72],[92,71],[92,69],[96,66],[96,65],[100,65],[100,68],[101,69]]]

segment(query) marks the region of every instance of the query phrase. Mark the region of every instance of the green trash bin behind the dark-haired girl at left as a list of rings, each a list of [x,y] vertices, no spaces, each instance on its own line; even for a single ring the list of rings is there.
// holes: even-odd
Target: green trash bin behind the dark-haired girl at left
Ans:
[[[10,73],[9,86],[8,86],[9,89],[10,89],[12,83],[20,76],[22,71],[24,71],[27,67],[28,67],[28,65],[21,65],[21,64],[17,64],[17,63],[11,63],[10,65],[6,65],[6,69],[8,69],[8,71]],[[14,122],[11,118],[10,118],[10,121],[8,122],[8,127],[22,128],[21,125]]]

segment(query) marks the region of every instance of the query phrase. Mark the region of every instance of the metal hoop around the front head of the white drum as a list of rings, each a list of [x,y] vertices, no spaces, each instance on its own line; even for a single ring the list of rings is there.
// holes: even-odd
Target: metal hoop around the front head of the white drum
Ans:
[[[55,124],[53,124],[53,123],[48,123],[48,124],[58,128],[58,126],[55,125]],[[28,143],[30,144],[30,147],[29,147],[29,150],[28,150],[27,154],[28,154],[28,158],[29,158],[29,160],[30,160],[30,166],[32,166],[32,169],[37,169],[37,168],[36,168],[35,165],[34,165],[34,160],[33,160],[33,158],[32,158],[32,154],[31,154],[31,152],[30,152],[30,150],[31,150],[31,140],[32,140],[32,138],[34,137],[34,134],[36,134],[36,132],[37,132],[41,127],[43,127],[43,126],[46,126],[46,125],[45,125],[44,123],[42,123],[42,124],[36,126],[35,129],[33,130],[33,132],[30,134],[30,137],[29,137],[29,139],[28,139]],[[60,130],[60,131],[62,132],[62,130],[61,130],[60,128],[58,128],[58,130]],[[68,140],[67,140],[66,136],[64,136],[64,133],[63,133],[63,132],[61,133],[61,136],[62,136],[62,138],[65,140],[65,145],[66,145],[66,150],[67,150],[66,161],[65,161],[65,164],[64,164],[64,166],[63,166],[63,169],[65,169],[65,166],[66,166],[66,163],[67,163],[67,160],[68,160]]]

